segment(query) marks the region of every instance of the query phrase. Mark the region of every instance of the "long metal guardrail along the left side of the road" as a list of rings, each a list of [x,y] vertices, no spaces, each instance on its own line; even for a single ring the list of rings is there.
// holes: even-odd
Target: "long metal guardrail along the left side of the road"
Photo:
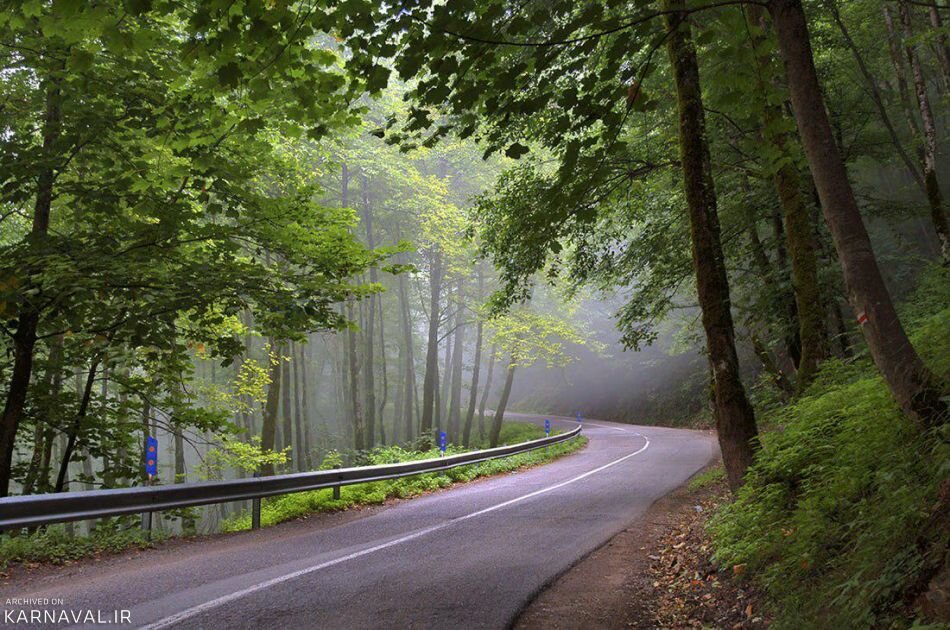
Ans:
[[[338,468],[229,481],[182,483],[171,486],[7,497],[0,499],[0,531],[107,516],[160,512],[211,503],[260,499],[279,494],[338,488],[368,481],[383,481],[440,472],[551,446],[575,437],[580,431],[581,427],[577,426],[567,433],[529,442],[398,464]],[[255,508],[259,509],[257,501],[255,504]]]

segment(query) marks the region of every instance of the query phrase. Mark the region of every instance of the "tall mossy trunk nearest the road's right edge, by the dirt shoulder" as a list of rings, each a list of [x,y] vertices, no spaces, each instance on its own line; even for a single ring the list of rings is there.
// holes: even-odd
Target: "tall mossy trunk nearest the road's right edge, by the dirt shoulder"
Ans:
[[[680,162],[689,206],[690,236],[696,289],[702,308],[706,348],[712,366],[716,429],[729,486],[742,484],[757,447],[752,405],[739,377],[735,331],[730,311],[729,282],[723,259],[713,187],[709,145],[706,141],[699,66],[684,0],[664,0],[679,109]]]

